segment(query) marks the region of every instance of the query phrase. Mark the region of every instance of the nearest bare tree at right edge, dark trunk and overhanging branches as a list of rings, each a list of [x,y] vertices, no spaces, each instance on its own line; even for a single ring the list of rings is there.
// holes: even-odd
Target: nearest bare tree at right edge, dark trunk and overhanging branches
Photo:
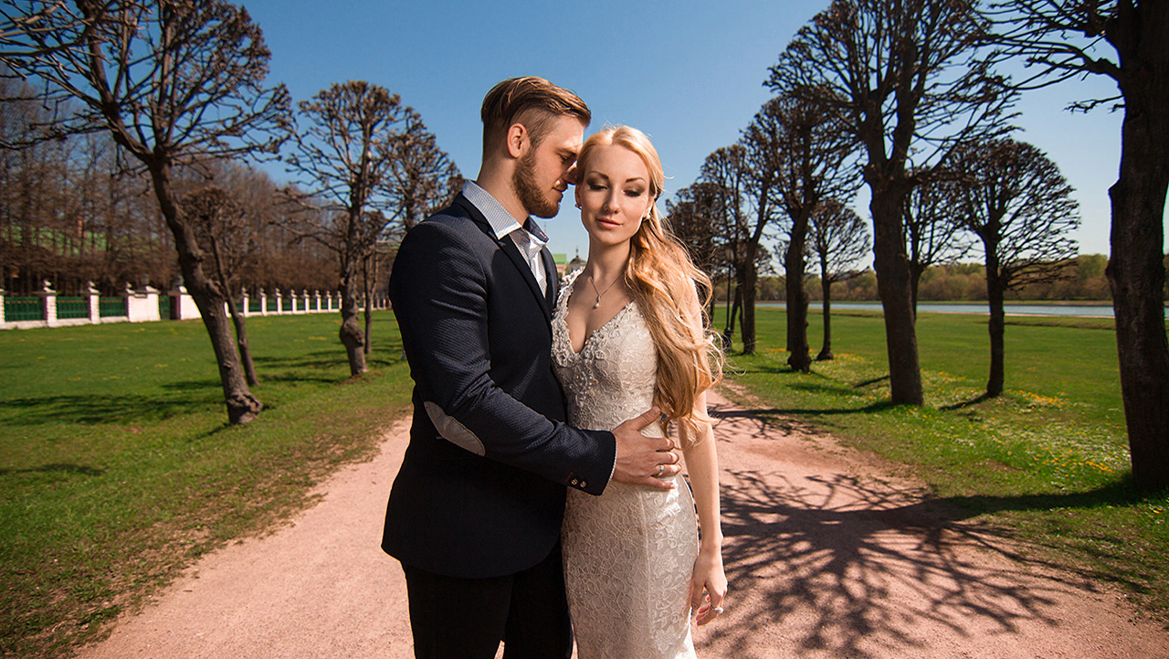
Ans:
[[[1120,389],[1133,476],[1169,486],[1169,341],[1163,294],[1169,190],[1169,2],[1017,0],[994,5],[1002,54],[1036,67],[1030,89],[1085,75],[1116,82],[1118,94],[1074,109],[1123,107],[1120,176],[1112,200],[1106,275],[1116,316]]]

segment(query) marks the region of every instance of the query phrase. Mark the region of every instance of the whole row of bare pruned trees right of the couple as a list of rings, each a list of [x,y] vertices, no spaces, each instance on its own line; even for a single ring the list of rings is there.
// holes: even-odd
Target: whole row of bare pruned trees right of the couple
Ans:
[[[867,236],[848,206],[864,186],[892,401],[924,400],[914,327],[922,274],[971,253],[982,256],[990,307],[987,393],[999,393],[1007,293],[1063,275],[1079,224],[1058,167],[1012,138],[1012,104],[1037,85],[1108,75],[1118,96],[1081,107],[1116,101],[1125,109],[1106,274],[1133,468],[1141,485],[1169,485],[1167,33],[1163,0],[831,2],[770,68],[765,84],[775,97],[738,144],[707,157],[699,180],[671,206],[699,260],[726,267],[738,282],[745,351],[754,351],[755,280],[772,229],[787,284],[789,364],[808,370],[803,283],[817,214],[831,205],[839,226],[853,227],[844,245],[856,254]],[[1038,73],[1012,81],[998,73],[1004,62]],[[833,276],[831,268],[823,273],[822,281]]]

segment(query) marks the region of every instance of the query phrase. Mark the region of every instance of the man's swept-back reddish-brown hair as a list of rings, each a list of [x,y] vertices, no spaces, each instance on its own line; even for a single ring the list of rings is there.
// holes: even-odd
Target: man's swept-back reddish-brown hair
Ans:
[[[527,129],[532,145],[539,145],[552,130],[552,121],[565,115],[579,118],[584,125],[593,119],[580,96],[542,77],[524,76],[500,82],[483,97],[483,157],[486,158],[492,144],[503,139],[507,129],[517,123]]]

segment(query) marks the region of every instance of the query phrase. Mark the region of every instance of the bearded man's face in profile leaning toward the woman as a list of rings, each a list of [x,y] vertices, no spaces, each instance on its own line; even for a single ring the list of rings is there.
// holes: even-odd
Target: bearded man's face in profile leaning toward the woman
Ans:
[[[512,174],[512,186],[524,210],[538,218],[552,218],[574,179],[576,155],[584,138],[584,124],[561,115],[534,149],[520,156]]]

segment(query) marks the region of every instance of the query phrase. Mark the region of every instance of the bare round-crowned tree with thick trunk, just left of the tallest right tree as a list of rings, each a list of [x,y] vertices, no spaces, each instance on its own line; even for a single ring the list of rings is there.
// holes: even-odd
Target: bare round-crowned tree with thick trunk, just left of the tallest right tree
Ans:
[[[758,195],[756,213],[762,217],[768,194],[783,211],[787,243],[783,258],[787,289],[788,365],[797,371],[811,369],[808,348],[808,231],[812,212],[825,199],[848,198],[856,191],[857,170],[850,155],[856,138],[842,130],[831,115],[824,115],[807,96],[784,90],[768,101],[743,132],[743,144],[752,162]],[[769,192],[760,192],[767,186]],[[752,238],[762,232],[756,224]]]

